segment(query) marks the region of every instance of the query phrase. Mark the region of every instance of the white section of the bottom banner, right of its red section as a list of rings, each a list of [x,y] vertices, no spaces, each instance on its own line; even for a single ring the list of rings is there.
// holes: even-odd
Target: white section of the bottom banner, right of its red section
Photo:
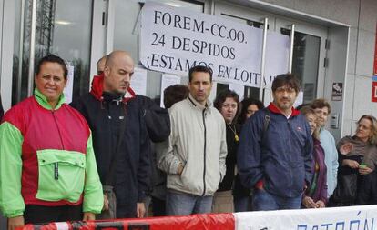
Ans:
[[[377,205],[234,214],[236,230],[377,230]]]

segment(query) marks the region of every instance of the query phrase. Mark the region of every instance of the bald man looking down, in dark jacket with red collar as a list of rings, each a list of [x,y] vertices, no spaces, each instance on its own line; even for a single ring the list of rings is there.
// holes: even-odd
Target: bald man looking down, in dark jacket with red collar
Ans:
[[[133,73],[131,56],[125,51],[112,52],[107,55],[104,74],[94,78],[90,93],[72,104],[92,130],[105,195],[99,218],[145,215],[142,201],[148,190],[150,145],[144,111],[129,90]]]

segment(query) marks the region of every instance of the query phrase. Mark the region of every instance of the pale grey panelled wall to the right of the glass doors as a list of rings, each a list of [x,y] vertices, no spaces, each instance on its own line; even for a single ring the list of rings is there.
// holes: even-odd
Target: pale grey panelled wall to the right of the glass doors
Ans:
[[[377,116],[377,103],[372,103],[371,100],[377,24],[376,0],[261,1],[351,25],[341,136],[352,135],[356,129],[355,122],[363,114]]]

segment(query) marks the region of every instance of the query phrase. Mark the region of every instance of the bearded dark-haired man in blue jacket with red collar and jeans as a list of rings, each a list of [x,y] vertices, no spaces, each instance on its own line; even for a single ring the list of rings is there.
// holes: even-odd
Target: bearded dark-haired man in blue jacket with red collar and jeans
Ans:
[[[272,82],[273,102],[242,128],[237,163],[241,183],[254,187],[253,210],[299,209],[311,182],[311,128],[293,103],[300,90],[290,74]]]

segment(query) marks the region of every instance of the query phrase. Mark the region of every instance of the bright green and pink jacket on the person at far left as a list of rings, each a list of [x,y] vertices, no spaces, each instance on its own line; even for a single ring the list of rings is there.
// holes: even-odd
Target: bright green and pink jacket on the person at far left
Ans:
[[[102,185],[85,118],[60,97],[56,108],[37,89],[0,125],[0,208],[7,217],[25,205],[81,205],[100,213]]]

